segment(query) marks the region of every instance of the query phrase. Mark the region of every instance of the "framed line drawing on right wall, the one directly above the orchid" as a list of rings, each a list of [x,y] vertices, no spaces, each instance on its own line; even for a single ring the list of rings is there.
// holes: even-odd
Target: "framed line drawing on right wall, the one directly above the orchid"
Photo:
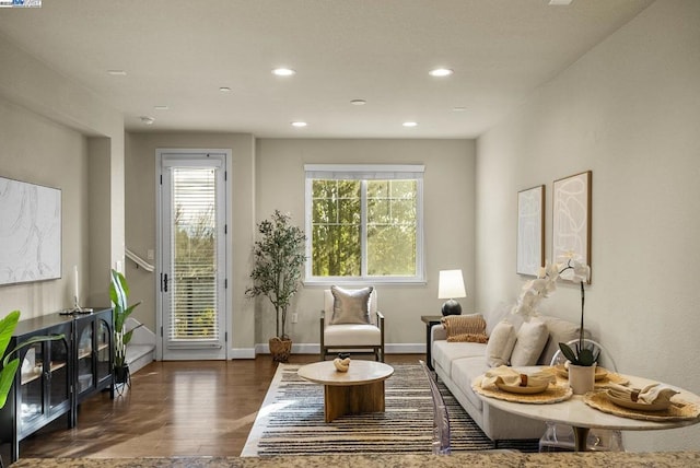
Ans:
[[[591,266],[591,171],[555,180],[552,261],[574,253]],[[590,281],[590,280],[588,280]]]

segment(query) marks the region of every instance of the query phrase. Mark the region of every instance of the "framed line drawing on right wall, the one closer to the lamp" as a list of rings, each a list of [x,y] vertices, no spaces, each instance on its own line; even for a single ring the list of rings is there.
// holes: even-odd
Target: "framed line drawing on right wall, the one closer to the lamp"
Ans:
[[[545,265],[545,186],[517,192],[517,261],[520,274],[536,277]]]

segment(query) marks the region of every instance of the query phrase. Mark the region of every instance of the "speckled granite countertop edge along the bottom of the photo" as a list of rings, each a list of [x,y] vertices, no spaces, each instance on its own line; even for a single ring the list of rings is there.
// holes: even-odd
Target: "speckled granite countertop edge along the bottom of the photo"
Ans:
[[[12,468],[37,467],[178,467],[178,468],[364,468],[364,467],[700,467],[700,452],[660,453],[459,453],[436,455],[322,455],[290,457],[173,457],[173,458],[23,458]]]

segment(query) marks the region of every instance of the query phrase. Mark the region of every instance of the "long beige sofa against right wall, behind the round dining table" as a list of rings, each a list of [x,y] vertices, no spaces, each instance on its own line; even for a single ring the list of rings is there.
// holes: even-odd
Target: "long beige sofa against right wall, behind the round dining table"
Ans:
[[[489,318],[485,318],[488,324]],[[509,321],[513,319],[509,318]],[[513,353],[517,352],[520,355],[518,361],[521,362],[518,365],[523,365],[523,350],[529,349],[532,352],[533,348],[540,349],[540,343],[544,342],[544,349],[540,352],[535,351],[538,353],[536,362],[530,362],[529,364],[549,365],[558,350],[559,342],[568,342],[579,337],[579,326],[576,324],[550,316],[540,316],[538,320],[540,320],[540,328],[544,328],[541,323],[546,326],[545,331],[540,330],[540,335],[544,338],[540,337],[539,339],[533,338],[534,334],[532,334],[533,327],[530,324],[525,327],[522,325],[513,326],[511,338],[512,334],[515,332],[515,342],[504,343],[506,349],[503,352],[508,355],[503,358],[506,363],[510,363],[512,350]],[[503,324],[489,325],[490,327],[487,325],[487,331],[490,340],[494,339],[495,334],[503,331],[501,329]],[[499,328],[497,329],[497,327]],[[471,382],[490,367],[487,360],[488,344],[447,341],[446,330],[442,325],[433,326],[431,336],[432,364],[438,377],[444,382],[457,401],[497,445],[498,441],[501,440],[539,438],[545,433],[545,423],[542,421],[514,416],[492,408],[483,402],[471,389]],[[538,341],[538,343],[534,343],[533,347],[532,341]],[[517,351],[514,347],[517,348]],[[489,351],[491,354],[493,353],[492,349]],[[492,365],[499,364],[494,362],[492,355],[490,358]]]

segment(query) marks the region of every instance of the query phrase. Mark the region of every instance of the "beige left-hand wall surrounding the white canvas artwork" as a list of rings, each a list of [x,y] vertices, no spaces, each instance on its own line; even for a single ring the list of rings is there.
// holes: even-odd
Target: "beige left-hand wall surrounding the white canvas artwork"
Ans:
[[[0,63],[0,174],[63,190],[63,279],[0,286],[0,314],[20,308],[27,318],[71,306],[73,265],[83,305],[108,305],[109,268],[124,256],[121,114],[4,38]]]

